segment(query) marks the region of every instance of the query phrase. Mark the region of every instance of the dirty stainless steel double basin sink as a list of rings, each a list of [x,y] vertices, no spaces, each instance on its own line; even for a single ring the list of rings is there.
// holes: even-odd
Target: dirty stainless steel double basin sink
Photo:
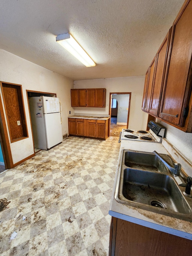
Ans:
[[[161,154],[173,164],[169,155]],[[119,203],[192,221],[192,199],[185,197],[185,187],[154,153],[122,150],[115,191]],[[181,177],[181,176],[179,176]],[[183,176],[184,178],[184,176]],[[182,183],[184,180],[179,178]],[[177,179],[178,181],[178,179]]]

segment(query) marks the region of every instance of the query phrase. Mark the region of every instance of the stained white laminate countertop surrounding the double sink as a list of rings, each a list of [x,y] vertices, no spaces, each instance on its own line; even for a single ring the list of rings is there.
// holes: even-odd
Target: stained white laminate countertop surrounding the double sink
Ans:
[[[170,146],[166,139],[163,139],[162,144],[139,142],[133,140],[122,140],[109,214],[116,218],[120,218],[145,227],[150,227],[155,230],[163,231],[166,233],[170,233],[176,236],[192,240],[191,222],[158,214],[155,212],[150,212],[144,209],[139,209],[133,206],[125,205],[115,200],[117,177],[118,172],[120,171],[119,165],[121,164],[120,156],[123,149],[146,152],[153,152],[155,150],[160,154],[169,154],[174,158],[175,161],[180,162],[182,164],[182,170],[184,170],[184,172],[186,172],[188,175],[190,173],[188,173],[187,170],[192,170],[192,166],[188,162],[186,162],[182,158],[182,156],[179,155],[179,153],[176,152],[175,149],[173,149],[173,147]],[[169,152],[167,151],[167,149],[169,150]]]

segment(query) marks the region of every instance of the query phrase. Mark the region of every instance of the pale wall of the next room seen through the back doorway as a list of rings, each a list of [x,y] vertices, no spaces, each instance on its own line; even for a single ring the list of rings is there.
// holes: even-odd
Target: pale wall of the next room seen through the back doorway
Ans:
[[[113,94],[112,98],[118,102],[117,123],[127,123],[129,94]]]

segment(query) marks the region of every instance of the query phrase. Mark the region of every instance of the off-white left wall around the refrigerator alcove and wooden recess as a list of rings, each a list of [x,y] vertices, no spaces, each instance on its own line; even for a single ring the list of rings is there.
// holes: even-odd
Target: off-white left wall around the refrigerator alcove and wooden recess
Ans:
[[[65,134],[68,133],[67,116],[69,111],[71,111],[71,114],[74,114],[74,110],[71,107],[70,102],[70,89],[73,88],[73,80],[58,75],[46,68],[42,68],[41,66],[1,49],[0,67],[0,81],[22,85],[24,107],[26,112],[29,138],[10,143],[14,164],[34,153],[26,90],[57,94],[57,97],[61,99],[63,119],[62,132]],[[2,99],[1,92],[0,95]]]

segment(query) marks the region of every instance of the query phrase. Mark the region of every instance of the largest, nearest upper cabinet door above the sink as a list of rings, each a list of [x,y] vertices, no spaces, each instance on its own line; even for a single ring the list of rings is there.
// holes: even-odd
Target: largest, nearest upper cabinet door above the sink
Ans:
[[[184,126],[191,91],[192,1],[185,1],[173,23],[160,117]]]

